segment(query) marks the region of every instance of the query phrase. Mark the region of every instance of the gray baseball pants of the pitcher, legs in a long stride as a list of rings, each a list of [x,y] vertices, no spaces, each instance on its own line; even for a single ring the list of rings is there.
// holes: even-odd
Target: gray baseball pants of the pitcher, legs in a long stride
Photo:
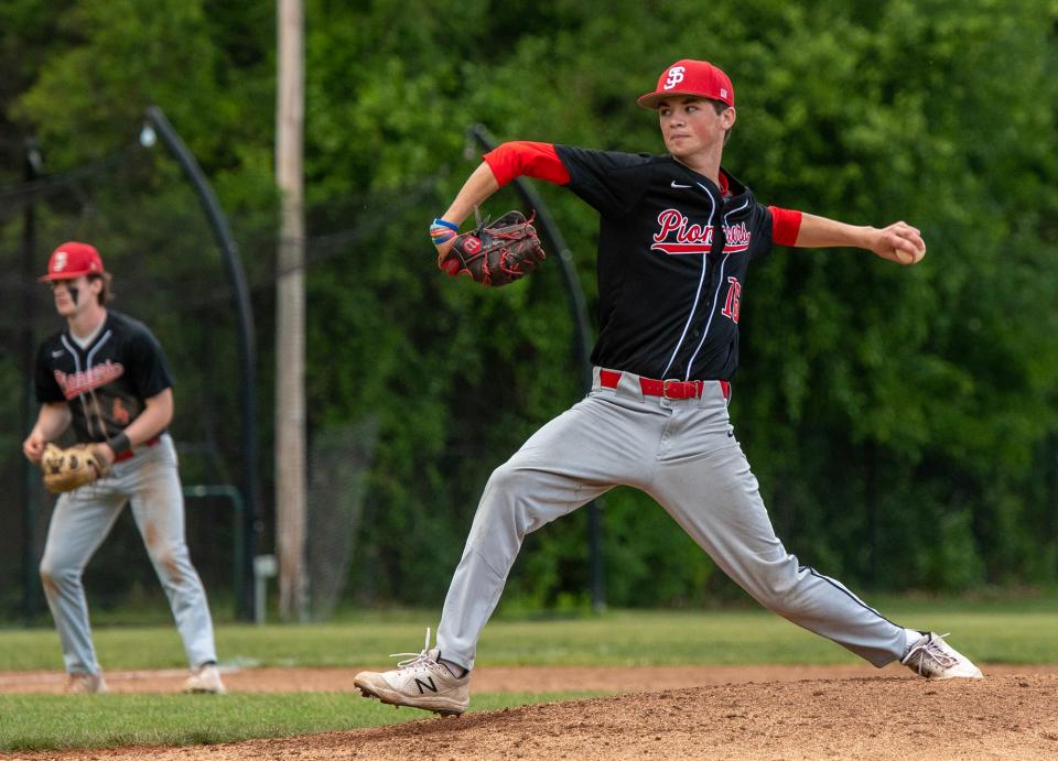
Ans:
[[[477,640],[526,534],[618,485],[652,497],[763,606],[883,666],[902,627],[832,578],[799,565],[776,537],[734,438],[719,382],[701,399],[644,396],[638,377],[592,392],[544,425],[489,478],[438,629],[441,655],[471,668]]]

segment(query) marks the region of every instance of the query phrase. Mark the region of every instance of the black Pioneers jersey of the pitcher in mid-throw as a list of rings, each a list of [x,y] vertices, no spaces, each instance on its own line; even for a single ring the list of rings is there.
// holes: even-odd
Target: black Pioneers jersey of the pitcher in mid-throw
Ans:
[[[569,188],[600,213],[600,334],[592,361],[649,378],[727,380],[749,261],[771,213],[721,173],[728,195],[671,156],[555,145]]]

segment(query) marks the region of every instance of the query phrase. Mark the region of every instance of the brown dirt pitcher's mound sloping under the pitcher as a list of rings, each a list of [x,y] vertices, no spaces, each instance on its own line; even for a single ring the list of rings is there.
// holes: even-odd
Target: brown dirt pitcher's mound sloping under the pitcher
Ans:
[[[402,709],[407,710],[407,709]],[[393,727],[93,758],[1054,759],[1058,676],[708,685]]]

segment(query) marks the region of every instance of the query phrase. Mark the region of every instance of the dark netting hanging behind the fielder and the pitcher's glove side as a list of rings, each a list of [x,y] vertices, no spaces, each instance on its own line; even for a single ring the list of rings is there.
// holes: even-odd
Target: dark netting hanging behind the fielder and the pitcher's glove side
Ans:
[[[306,208],[306,559],[315,620],[343,604],[439,604],[492,468],[581,392],[557,268],[488,297],[436,276],[422,220],[451,195],[455,172],[442,166],[411,186]],[[274,546],[271,193],[244,193],[226,208],[255,315],[257,553]],[[175,162],[130,141],[89,165],[0,187],[0,382],[9,390],[0,401],[0,488],[9,496],[0,513],[0,622],[48,620],[35,564],[53,498],[21,442],[36,415],[28,352],[63,327],[35,279],[65,240],[99,249],[114,274],[110,307],[143,320],[166,352],[185,487],[230,487],[244,476],[237,312],[217,242]],[[533,327],[520,325],[527,315]],[[552,358],[559,372],[533,381],[527,368]],[[236,610],[237,507],[215,491],[187,499],[192,558],[222,620]],[[565,531],[582,537],[584,526],[571,521]],[[525,574],[531,588],[536,572]],[[85,584],[94,615],[168,620],[128,511]]]

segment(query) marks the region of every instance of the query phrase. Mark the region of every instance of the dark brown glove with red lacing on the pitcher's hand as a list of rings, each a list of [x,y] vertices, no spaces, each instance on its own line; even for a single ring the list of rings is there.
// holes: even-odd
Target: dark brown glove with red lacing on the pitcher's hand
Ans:
[[[469,275],[482,285],[506,285],[529,274],[547,259],[532,226],[521,211],[508,211],[492,225],[464,232],[438,265],[450,275]]]

